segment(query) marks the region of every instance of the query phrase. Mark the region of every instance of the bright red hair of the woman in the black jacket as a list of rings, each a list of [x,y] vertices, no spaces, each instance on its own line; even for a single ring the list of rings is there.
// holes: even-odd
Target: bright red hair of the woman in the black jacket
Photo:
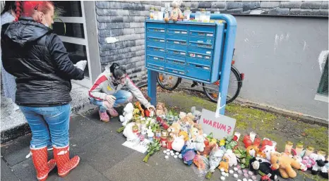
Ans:
[[[16,1],[15,21],[18,21],[20,15],[32,17],[35,11],[47,13],[51,8],[54,8],[52,1]]]

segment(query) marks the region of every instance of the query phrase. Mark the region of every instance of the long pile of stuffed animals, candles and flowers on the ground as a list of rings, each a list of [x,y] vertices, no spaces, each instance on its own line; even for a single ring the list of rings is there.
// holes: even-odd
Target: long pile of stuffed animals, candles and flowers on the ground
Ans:
[[[127,141],[148,138],[151,142],[160,142],[165,149],[165,158],[174,156],[181,158],[187,166],[194,163],[198,169],[209,168],[206,170],[208,179],[217,168],[222,173],[221,180],[225,180],[229,173],[238,180],[239,175],[256,180],[255,175],[258,174],[262,176],[261,180],[294,178],[297,176],[294,169],[311,170],[313,175],[328,178],[329,158],[325,159],[319,152],[306,154],[304,150],[297,154],[295,149],[291,149],[291,153],[279,153],[276,142],[267,138],[261,140],[254,132],[253,135],[244,136],[244,148],[241,148],[243,145],[239,146],[238,132],[224,139],[215,139],[212,133],[203,133],[198,124],[201,112],[196,107],[191,108],[191,113],[178,114],[168,110],[164,103],[158,103],[152,113],[143,113],[145,110],[139,103],[127,104],[124,108],[120,120]]]

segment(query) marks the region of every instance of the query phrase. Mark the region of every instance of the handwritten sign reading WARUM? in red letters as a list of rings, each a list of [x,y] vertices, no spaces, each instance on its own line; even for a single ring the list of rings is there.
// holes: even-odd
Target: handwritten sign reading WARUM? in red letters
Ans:
[[[224,115],[221,115],[220,118],[215,118],[214,112],[204,108],[199,120],[203,132],[207,135],[213,132],[213,137],[216,139],[223,139],[224,137],[233,135],[235,123],[237,123],[237,120]]]

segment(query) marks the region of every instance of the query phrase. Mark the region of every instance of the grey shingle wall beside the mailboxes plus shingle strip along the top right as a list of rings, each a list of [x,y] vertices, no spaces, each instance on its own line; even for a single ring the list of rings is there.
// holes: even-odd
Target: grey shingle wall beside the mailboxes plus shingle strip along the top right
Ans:
[[[144,20],[150,7],[160,9],[164,1],[95,1],[98,40],[102,68],[108,63],[126,66],[136,85],[145,85]],[[327,16],[328,1],[184,1],[181,10],[220,11],[234,15],[306,15]],[[118,42],[107,43],[107,37]]]

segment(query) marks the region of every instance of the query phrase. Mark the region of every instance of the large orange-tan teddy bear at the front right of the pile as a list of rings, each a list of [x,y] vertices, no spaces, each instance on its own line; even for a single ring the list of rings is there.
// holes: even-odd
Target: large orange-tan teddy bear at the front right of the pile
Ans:
[[[293,169],[300,169],[301,165],[290,158],[287,154],[280,154],[278,152],[273,152],[270,154],[270,163],[272,164],[272,169],[279,169],[282,178],[294,178],[297,176],[296,171]]]

